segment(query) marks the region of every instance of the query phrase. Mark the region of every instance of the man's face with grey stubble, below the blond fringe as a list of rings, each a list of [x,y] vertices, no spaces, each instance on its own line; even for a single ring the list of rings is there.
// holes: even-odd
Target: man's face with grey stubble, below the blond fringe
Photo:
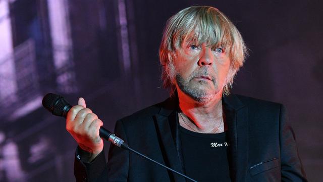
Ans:
[[[230,69],[230,58],[221,47],[184,41],[174,59],[178,90],[199,103],[222,93]]]

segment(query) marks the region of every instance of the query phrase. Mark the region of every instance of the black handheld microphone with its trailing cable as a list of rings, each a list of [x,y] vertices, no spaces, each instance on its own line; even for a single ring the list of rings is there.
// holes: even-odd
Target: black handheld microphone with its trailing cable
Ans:
[[[67,101],[65,101],[65,99],[62,96],[59,96],[57,94],[52,94],[52,93],[48,93],[44,96],[44,98],[42,99],[42,106],[45,109],[47,109],[49,112],[51,112],[51,114],[56,115],[56,116],[62,116],[64,118],[66,118],[67,113],[72,108],[72,106]],[[122,139],[120,139],[118,136],[113,134],[111,131],[105,129],[104,127],[101,126],[99,131],[100,131],[100,137],[105,140],[110,141],[112,144],[114,144],[120,148],[130,150],[130,151],[136,153],[137,155],[140,155],[141,157],[148,159],[151,162],[154,162],[155,164],[163,166],[166,169],[171,170],[171,171],[175,172],[176,174],[179,174],[191,181],[197,182],[196,180],[194,180],[194,179],[192,179],[180,172],[177,172],[176,170],[169,168],[166,165],[161,164],[153,159],[150,159],[149,157],[131,149],[128,146],[128,144],[126,144]]]

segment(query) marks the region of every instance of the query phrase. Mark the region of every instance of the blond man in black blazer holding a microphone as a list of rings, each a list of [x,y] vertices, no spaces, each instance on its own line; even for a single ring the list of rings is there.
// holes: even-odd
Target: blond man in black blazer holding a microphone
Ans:
[[[222,12],[194,6],[171,17],[159,55],[171,98],[117,121],[131,148],[197,181],[306,181],[284,107],[229,92],[246,47]],[[106,164],[103,123],[78,104],[66,126],[78,181],[186,180],[116,146]]]

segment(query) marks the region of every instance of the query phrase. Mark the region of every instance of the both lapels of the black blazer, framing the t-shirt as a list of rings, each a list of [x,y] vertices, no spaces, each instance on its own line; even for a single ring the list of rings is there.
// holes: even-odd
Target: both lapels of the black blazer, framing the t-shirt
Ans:
[[[177,97],[161,103],[160,111],[155,115],[155,122],[169,162],[166,165],[184,173],[179,139],[178,103]],[[234,94],[223,98],[223,106],[228,125],[230,176],[232,181],[245,181],[248,162],[248,109]],[[185,181],[182,176],[177,174],[173,176],[175,181]]]

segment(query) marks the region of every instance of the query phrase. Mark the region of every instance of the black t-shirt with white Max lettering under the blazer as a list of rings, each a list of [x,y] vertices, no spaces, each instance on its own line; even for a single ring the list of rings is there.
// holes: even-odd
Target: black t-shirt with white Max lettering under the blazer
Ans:
[[[185,174],[197,181],[231,181],[226,132],[197,133],[180,126]]]

